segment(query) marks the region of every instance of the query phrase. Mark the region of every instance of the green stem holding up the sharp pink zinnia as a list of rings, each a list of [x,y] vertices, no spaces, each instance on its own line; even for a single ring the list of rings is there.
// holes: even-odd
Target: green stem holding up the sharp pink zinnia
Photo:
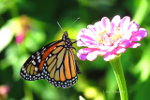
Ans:
[[[128,100],[128,92],[127,92],[127,87],[126,87],[126,81],[124,78],[124,73],[122,69],[122,64],[120,61],[120,56],[116,57],[115,59],[110,61],[111,66],[113,68],[116,81],[119,87],[120,91],[120,98],[121,100]]]

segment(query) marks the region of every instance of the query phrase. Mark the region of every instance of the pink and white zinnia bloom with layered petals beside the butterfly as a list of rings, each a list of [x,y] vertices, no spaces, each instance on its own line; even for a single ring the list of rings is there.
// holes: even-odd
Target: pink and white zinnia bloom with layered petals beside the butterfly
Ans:
[[[110,21],[103,17],[94,25],[81,29],[77,36],[77,45],[86,48],[80,49],[77,56],[81,60],[93,61],[97,56],[103,56],[105,61],[114,59],[124,53],[127,48],[140,46],[142,38],[147,36],[147,31],[125,16],[116,15]]]

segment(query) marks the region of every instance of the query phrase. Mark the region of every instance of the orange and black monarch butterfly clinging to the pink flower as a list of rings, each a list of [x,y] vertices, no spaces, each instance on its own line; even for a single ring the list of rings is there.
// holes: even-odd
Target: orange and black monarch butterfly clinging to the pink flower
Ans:
[[[27,59],[21,68],[21,77],[29,81],[46,79],[55,87],[73,86],[79,74],[73,43],[65,31],[61,40],[49,43]]]

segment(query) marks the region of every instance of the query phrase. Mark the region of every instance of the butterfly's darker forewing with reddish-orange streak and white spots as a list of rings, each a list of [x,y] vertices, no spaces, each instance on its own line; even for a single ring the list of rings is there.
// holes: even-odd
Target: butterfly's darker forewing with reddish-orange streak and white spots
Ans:
[[[20,75],[22,78],[30,81],[45,79],[44,72],[46,71],[43,69],[45,59],[59,42],[61,41],[50,43],[32,54],[21,68]]]

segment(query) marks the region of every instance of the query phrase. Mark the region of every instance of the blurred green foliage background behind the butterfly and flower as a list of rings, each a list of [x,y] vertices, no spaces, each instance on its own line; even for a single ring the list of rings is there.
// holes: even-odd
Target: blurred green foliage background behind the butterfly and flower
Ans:
[[[116,14],[131,16],[149,31],[149,4],[150,0],[0,0],[0,85],[10,88],[7,100],[120,100],[112,68],[102,57],[93,62],[77,59],[82,74],[69,89],[55,88],[46,80],[25,81],[20,69],[33,52],[61,38],[57,21],[73,40],[81,28]],[[150,98],[149,41],[148,36],[141,47],[122,54],[129,100]]]

